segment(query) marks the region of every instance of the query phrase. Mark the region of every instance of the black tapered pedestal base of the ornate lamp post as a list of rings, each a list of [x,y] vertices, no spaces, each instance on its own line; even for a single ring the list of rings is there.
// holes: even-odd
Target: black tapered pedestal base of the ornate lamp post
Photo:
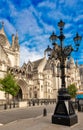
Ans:
[[[71,126],[78,122],[78,118],[70,100],[70,95],[65,92],[66,89],[60,89],[59,91],[56,108],[52,115],[52,123]]]

